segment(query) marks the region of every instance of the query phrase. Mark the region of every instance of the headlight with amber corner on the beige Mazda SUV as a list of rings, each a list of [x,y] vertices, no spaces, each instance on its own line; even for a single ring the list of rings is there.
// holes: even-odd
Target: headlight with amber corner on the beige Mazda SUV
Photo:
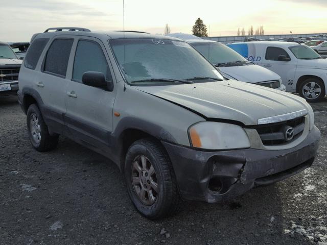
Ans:
[[[238,125],[203,121],[189,128],[191,145],[207,150],[249,148],[250,141]]]

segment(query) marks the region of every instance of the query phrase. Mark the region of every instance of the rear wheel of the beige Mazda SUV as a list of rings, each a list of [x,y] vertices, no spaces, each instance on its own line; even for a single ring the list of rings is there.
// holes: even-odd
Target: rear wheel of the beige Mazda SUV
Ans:
[[[48,152],[58,145],[59,136],[51,136],[40,109],[32,104],[27,110],[27,131],[33,148],[38,152]]]

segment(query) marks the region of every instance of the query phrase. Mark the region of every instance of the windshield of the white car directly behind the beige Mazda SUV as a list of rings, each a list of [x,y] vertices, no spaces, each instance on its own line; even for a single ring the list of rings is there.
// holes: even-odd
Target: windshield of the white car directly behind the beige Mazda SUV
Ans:
[[[211,63],[222,64],[247,60],[230,47],[218,42],[196,42],[192,45]]]

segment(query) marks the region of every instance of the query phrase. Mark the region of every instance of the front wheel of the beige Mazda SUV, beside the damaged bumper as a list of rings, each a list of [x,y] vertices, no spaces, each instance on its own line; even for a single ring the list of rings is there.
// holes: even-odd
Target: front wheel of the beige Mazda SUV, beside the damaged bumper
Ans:
[[[126,154],[124,170],[129,197],[139,213],[149,219],[158,219],[180,210],[181,198],[175,173],[159,143],[151,139],[135,141]],[[157,191],[153,183],[157,184]]]

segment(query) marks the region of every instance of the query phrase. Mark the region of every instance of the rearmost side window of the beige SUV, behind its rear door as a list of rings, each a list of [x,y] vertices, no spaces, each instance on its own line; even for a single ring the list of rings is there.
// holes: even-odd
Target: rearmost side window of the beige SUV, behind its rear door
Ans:
[[[32,42],[24,60],[24,66],[26,68],[32,70],[35,69],[36,64],[44,50],[44,47],[48,42],[49,38],[38,38]]]

